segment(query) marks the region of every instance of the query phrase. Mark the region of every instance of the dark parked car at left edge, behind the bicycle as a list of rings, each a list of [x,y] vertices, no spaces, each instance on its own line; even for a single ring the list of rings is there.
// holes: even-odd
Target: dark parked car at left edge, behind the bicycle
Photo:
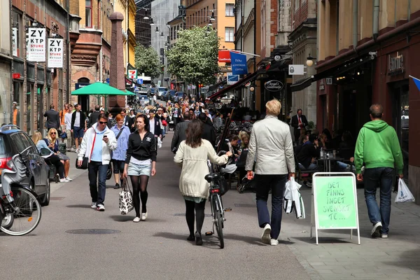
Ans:
[[[15,125],[0,127],[0,172],[10,169],[13,155],[20,153],[28,169],[28,176],[21,183],[34,190],[42,205],[50,204],[50,168],[38,152],[29,135]]]

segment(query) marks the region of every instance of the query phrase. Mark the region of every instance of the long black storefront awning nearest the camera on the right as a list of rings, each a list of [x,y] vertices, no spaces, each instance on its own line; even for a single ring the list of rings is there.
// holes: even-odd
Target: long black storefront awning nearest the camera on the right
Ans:
[[[314,76],[311,76],[309,78],[302,78],[300,80],[297,80],[295,83],[293,83],[293,85],[290,85],[290,90],[292,92],[297,92],[299,90],[304,90],[306,87],[309,87],[311,83],[314,83],[317,80],[321,80],[323,78],[329,78],[329,77],[337,78],[339,76],[344,75],[348,71],[353,70],[357,68],[358,66],[365,64],[366,62],[372,61],[372,59],[374,59],[374,57],[372,57],[371,55],[364,55],[361,57],[350,59],[328,70],[316,73]]]

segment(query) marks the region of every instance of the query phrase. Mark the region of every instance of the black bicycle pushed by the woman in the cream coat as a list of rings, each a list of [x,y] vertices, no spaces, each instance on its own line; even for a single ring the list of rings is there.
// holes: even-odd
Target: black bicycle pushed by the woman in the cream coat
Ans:
[[[221,248],[225,247],[225,241],[223,240],[223,228],[225,222],[225,211],[232,211],[230,208],[223,208],[223,202],[221,194],[223,190],[219,186],[219,181],[222,179],[222,175],[218,173],[207,174],[204,179],[210,183],[210,195],[209,202],[211,205],[211,217],[213,218],[213,231],[206,232],[206,236],[214,235],[214,228],[218,235],[219,241],[221,241]]]

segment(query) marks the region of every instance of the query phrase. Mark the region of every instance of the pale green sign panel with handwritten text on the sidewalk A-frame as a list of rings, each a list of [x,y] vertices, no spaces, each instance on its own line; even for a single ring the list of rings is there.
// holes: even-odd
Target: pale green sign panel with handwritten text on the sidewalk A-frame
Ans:
[[[316,176],[318,228],[357,228],[356,200],[351,176]]]

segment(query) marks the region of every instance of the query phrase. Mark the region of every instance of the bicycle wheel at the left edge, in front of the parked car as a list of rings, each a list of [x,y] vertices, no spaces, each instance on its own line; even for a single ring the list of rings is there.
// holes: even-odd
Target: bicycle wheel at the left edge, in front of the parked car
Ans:
[[[7,228],[0,227],[0,230],[7,235],[27,235],[41,221],[41,203],[36,195],[21,186],[13,186],[12,193],[15,212],[13,213],[10,205],[5,207],[5,218],[8,218],[9,225]],[[13,222],[11,225],[10,221]]]

